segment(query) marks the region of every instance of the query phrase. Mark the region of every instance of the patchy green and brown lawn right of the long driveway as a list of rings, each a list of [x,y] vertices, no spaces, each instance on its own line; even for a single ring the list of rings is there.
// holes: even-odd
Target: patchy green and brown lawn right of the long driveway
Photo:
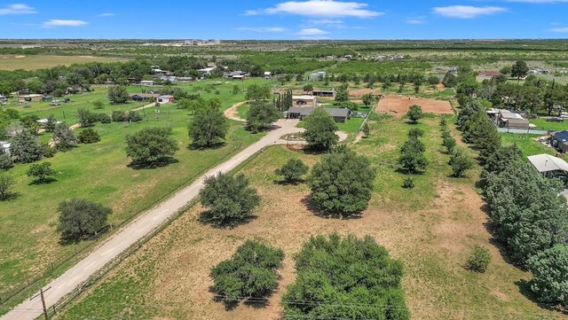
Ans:
[[[389,117],[371,121],[370,137],[351,144],[371,159],[378,173],[370,206],[355,219],[317,215],[310,208],[306,184],[280,184],[273,173],[290,158],[312,166],[320,155],[285,146],[267,149],[240,169],[262,197],[253,221],[233,230],[216,229],[199,222],[203,207],[196,205],[56,318],[279,319],[281,294],[296,277],[293,255],[311,236],[333,231],[370,235],[404,263],[403,284],[414,319],[560,317],[525,297],[519,284],[529,274],[506,262],[501,248],[490,241],[481,209],[484,202],[474,187],[480,169],[467,178],[449,177],[438,121],[427,119],[416,126],[426,131],[422,141],[430,164],[423,175],[414,177],[412,190],[401,188],[405,176],[395,168],[399,146],[414,126]],[[213,299],[209,270],[248,238],[263,238],[284,250],[279,287],[266,305],[241,303],[226,309]],[[463,268],[474,245],[485,246],[492,254],[485,274]]]

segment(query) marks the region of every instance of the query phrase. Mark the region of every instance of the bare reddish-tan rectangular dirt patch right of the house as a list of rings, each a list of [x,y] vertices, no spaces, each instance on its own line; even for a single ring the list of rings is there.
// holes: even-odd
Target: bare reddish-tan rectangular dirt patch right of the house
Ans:
[[[377,113],[391,113],[402,116],[408,112],[410,105],[422,106],[424,113],[454,113],[452,105],[450,105],[448,101],[397,95],[382,98],[376,106],[375,111]]]

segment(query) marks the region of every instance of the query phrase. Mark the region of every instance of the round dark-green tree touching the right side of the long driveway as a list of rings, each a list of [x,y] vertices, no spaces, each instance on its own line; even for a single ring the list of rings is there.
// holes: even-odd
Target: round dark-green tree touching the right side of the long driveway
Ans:
[[[218,227],[233,227],[247,221],[260,204],[260,197],[249,186],[246,176],[222,173],[205,179],[200,199],[209,208],[206,220]]]

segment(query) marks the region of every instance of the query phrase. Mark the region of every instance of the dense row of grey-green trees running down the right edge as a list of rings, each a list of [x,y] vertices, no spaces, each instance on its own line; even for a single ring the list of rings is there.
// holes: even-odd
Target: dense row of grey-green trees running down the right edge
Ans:
[[[485,115],[486,102],[466,99],[457,124],[479,150],[482,183],[494,234],[509,256],[531,270],[531,289],[541,302],[568,305],[568,208],[559,181],[540,176],[517,145],[501,136]]]

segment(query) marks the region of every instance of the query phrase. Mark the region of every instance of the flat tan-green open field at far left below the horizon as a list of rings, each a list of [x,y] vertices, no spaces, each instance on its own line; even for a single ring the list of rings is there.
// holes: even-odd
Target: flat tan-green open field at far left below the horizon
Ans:
[[[126,60],[127,59],[123,58],[93,56],[0,55],[0,70],[36,70],[52,66],[70,66],[87,62],[116,62]]]

